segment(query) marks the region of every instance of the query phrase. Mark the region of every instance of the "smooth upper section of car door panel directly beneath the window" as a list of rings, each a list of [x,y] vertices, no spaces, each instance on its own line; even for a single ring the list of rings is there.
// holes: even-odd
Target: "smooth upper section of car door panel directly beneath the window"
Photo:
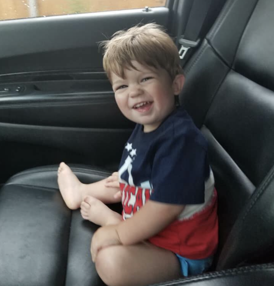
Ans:
[[[98,42],[138,23],[155,21],[166,27],[168,12],[157,7],[149,12],[133,9],[0,21],[0,74],[102,70]]]

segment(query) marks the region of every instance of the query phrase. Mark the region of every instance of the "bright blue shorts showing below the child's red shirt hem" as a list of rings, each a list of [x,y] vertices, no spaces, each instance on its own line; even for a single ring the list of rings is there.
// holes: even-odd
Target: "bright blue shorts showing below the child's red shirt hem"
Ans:
[[[184,276],[202,274],[204,271],[208,270],[213,261],[213,256],[210,256],[205,259],[196,259],[196,260],[188,259],[178,254],[176,254],[176,256],[180,261],[182,274]]]

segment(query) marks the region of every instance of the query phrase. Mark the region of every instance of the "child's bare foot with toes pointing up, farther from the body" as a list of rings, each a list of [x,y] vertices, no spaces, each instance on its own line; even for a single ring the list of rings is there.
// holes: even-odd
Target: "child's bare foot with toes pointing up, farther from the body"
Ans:
[[[58,186],[66,205],[72,210],[79,208],[82,202],[81,185],[82,183],[73,174],[70,167],[64,162],[60,163]]]

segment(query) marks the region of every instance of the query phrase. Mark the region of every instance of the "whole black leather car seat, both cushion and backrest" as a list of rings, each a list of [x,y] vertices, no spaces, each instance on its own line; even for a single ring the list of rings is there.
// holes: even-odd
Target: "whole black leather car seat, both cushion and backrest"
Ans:
[[[274,2],[228,0],[185,68],[180,96],[209,142],[220,247],[215,269],[163,285],[274,281]],[[108,175],[73,166],[83,182]],[[90,259],[97,227],[66,208],[57,166],[26,170],[0,191],[0,284],[102,285]]]

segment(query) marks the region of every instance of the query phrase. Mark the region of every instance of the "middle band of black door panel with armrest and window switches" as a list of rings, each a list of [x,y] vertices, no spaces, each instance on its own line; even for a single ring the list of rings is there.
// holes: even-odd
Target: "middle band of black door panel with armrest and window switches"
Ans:
[[[90,78],[0,84],[0,122],[131,128],[133,124],[119,111],[105,75],[93,73]]]

